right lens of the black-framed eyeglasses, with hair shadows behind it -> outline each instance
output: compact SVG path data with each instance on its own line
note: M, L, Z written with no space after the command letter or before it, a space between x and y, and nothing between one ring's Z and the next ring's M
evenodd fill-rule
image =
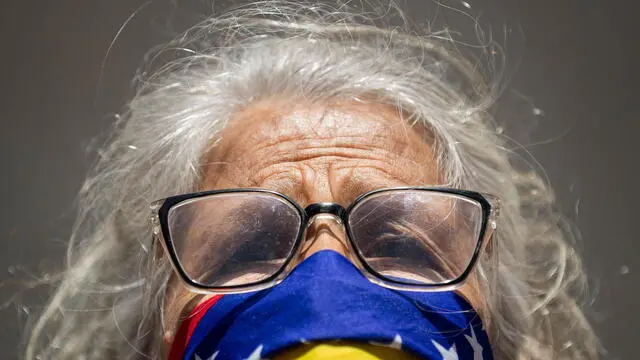
M434 191L373 194L349 215L351 238L364 262L385 279L416 285L460 277L481 225L478 202Z

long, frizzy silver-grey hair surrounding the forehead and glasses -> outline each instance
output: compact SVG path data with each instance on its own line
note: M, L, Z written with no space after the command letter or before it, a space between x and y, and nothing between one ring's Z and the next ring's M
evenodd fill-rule
M345 6L261 1L156 49L151 63L174 50L183 55L141 73L99 152L80 190L64 277L25 357L160 358L171 270L155 256L149 203L198 187L204 152L238 108L268 97L366 97L432 129L447 186L502 199L493 246L478 267L496 359L597 359L577 301L584 271L575 234L546 182L514 165L496 131L489 110L497 82L446 33L379 20Z

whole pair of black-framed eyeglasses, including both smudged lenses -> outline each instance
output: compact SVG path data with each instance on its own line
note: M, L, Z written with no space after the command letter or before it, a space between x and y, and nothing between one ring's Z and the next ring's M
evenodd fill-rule
M153 233L186 285L242 293L280 283L304 248L306 230L331 216L346 230L350 257L370 281L410 291L462 284L496 228L499 201L450 188L395 187L302 208L264 189L172 196L152 205Z

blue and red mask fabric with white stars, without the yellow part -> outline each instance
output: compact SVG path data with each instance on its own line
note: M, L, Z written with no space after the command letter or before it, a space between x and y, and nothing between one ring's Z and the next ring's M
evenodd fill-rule
M266 359L301 344L344 340L424 359L493 359L482 321L455 292L371 283L337 252L319 251L277 286L200 304L170 360Z

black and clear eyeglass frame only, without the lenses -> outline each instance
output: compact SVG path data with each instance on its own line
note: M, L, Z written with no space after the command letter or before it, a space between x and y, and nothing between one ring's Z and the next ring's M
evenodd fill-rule
M469 261L467 267L457 278L443 282L443 283L437 283L437 284L405 283L396 279L389 278L387 276L384 276L378 273L373 268L371 268L371 266L364 259L364 256L361 254L361 251L358 248L356 242L353 240L351 227L349 226L349 215L351 214L352 209L354 209L359 203L366 200L370 196L377 195L384 192L407 191L407 190L428 191L428 192L457 195L470 200L477 201L480 204L482 208L482 223L481 223L478 239L476 240L476 246L474 248L473 254L471 256L471 260ZM291 205L294 209L298 211L298 214L300 216L300 225L296 235L295 243L291 247L290 253L287 255L287 259L285 260L283 265L280 267L280 269L278 269L278 271L276 271L273 275L265 279L262 279L260 281L256 281L249 284L230 285L230 286L207 286L194 281L182 268L181 261L178 258L175 247L173 246L173 241L171 239L171 234L169 231L169 224L168 224L170 210L174 206L181 204L184 201L193 200L201 197L219 195L219 194L228 194L228 193L252 193L252 192L275 195L276 197L279 197L285 200L289 205ZM301 245L304 243L305 230L309 225L309 221L319 214L329 214L340 219L340 221L342 222L345 228L349 245L351 246L351 249L353 250L353 253L356 255L358 260L358 264L354 264L354 265L356 265L356 267L358 267L360 271L363 273L363 275L365 275L370 281L378 285L396 289L396 290L427 292L427 291L453 290L459 287L461 284L463 284L467 280L467 278L473 271L476 263L478 262L478 258L480 257L480 254L486 247L486 244L489 242L490 236L486 236L487 230L489 229L489 225L491 226L491 229L489 230L491 236L493 235L493 232L497 227L496 219L499 214L499 209L500 209L500 200L491 194L479 193L471 190L446 188L446 187L407 186L407 187L390 187L390 188L376 189L358 196L346 209L340 204L332 203L332 202L314 203L314 204L308 205L305 208L302 208L297 202L295 202L288 196L276 191L260 189L260 188L233 188L233 189L200 191L195 193L170 196L164 199L154 201L151 204L151 210L152 210L151 222L153 226L154 240L159 240L161 242L162 247L165 250L165 253L169 255L169 258L171 260L171 265L174 268L174 270L178 273L178 275L185 282L185 284L192 291L197 293L203 293L203 294L243 293L243 292L249 292L249 291L262 290L262 289L277 285L291 272L292 270L290 268L291 261L295 258L295 255L298 253Z

